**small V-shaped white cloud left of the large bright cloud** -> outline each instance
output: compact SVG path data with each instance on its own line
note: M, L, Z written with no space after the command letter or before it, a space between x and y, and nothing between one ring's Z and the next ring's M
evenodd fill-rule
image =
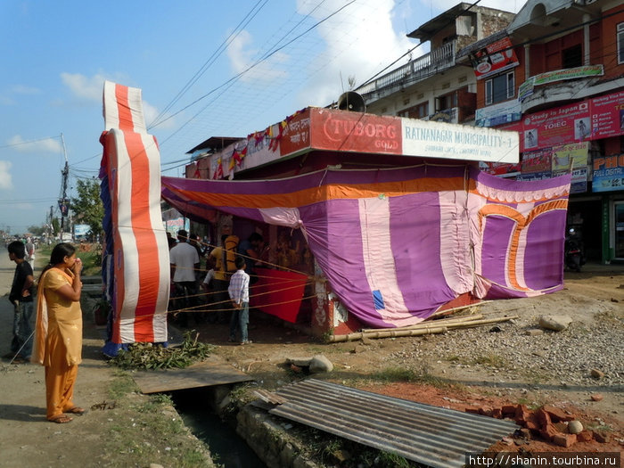
M227 46L227 57L234 74L247 70L259 60L259 50L251 47L253 38L248 31L241 31ZM242 75L242 81L270 83L275 78L283 77L287 73L283 63L288 61L284 53L275 53L267 60L260 62L253 69Z

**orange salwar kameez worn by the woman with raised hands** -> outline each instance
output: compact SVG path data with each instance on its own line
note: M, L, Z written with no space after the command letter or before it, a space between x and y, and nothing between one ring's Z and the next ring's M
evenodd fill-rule
M48 420L74 407L72 398L78 364L82 361L80 303L57 290L73 283L73 274L50 268L39 281L37 324L32 361L45 365L45 401Z

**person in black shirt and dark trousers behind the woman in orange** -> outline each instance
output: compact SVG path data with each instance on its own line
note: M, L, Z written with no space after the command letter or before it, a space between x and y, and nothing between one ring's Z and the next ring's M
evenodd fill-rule
M15 262L15 274L9 300L14 310L13 315L13 337L11 341L11 352L4 357L12 359L14 364L23 364L30 358L32 351L32 325L30 319L33 313L33 284L35 278L32 268L26 261L26 249L20 241L11 242L7 246L9 259Z

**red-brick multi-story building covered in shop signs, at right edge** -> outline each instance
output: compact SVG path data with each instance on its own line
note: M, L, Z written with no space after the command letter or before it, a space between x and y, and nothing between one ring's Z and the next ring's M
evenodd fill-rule
M572 172L568 226L588 259L624 261L624 8L609 0L530 0L500 35L465 47L479 74L512 52L517 66L477 81L476 125L520 133L524 180ZM482 51L487 53L483 54Z

